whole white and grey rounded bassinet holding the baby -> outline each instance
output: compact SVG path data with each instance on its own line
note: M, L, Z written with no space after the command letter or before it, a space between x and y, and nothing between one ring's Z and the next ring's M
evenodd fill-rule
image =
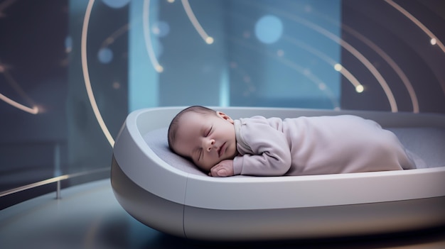
M151 228L202 240L272 240L363 236L445 224L444 115L217 108L232 118L362 116L393 131L428 165L387 172L218 178L168 150L167 127L181 109L132 112L114 144L114 195Z

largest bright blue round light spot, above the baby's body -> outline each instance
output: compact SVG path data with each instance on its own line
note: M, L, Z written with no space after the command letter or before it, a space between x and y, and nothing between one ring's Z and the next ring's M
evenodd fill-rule
M275 43L283 34L283 23L277 16L263 16L255 25L255 35L262 43Z

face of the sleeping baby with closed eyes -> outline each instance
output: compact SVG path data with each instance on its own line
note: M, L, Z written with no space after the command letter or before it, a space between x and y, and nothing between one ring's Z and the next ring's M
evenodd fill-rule
M237 155L235 126L229 116L196 113L184 114L176 133L176 153L191 160L205 171Z

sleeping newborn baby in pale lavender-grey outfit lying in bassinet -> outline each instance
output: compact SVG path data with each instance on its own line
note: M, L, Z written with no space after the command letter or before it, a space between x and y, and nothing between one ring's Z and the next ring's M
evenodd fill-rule
M233 120L221 111L190 106L171 121L168 145L213 177L415 168L392 132L351 115Z

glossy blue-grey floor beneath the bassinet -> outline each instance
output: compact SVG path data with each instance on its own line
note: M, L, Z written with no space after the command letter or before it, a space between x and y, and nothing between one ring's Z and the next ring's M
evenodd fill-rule
M360 238L221 243L168 236L129 216L109 179L0 211L0 248L445 248L445 227Z

